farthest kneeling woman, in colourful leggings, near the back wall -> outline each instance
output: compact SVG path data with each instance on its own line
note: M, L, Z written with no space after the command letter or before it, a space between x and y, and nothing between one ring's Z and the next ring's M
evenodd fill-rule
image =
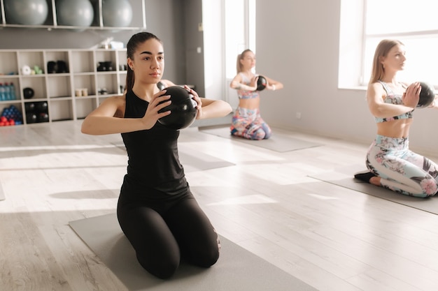
M237 75L229 87L237 90L239 107L236 108L230 126L231 134L248 140L263 140L271 136L271 128L260 117L260 93L257 91L258 75L252 72L255 68L255 54L244 50L237 56ZM269 77L266 89L278 90L283 84Z

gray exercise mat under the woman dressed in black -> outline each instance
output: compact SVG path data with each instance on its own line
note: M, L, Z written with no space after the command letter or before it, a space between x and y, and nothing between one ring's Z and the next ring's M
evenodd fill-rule
M213 267L203 269L183 263L172 278L164 281L141 267L115 214L69 224L131 291L316 291L225 237L220 237L220 258Z

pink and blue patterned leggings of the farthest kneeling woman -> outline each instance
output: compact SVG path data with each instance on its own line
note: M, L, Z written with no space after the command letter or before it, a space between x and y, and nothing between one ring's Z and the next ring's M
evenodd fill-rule
M271 136L271 128L260 117L260 110L237 107L229 127L232 135L248 140L263 140Z

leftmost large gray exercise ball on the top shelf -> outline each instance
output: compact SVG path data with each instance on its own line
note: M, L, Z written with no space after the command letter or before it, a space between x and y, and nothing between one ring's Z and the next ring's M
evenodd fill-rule
M44 24L48 16L45 0L4 0L6 22L24 25Z

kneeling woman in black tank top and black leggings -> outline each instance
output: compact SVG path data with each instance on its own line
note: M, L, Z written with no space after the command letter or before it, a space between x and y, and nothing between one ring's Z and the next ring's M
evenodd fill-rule
M181 258L211 267L219 258L218 234L185 179L178 159L179 130L157 122L171 113L160 113L171 103L157 87L164 71L161 40L152 33L134 34L127 43L127 64L126 93L106 98L81 129L90 135L122 135L129 161L117 207L120 227L141 266L158 278L171 277ZM201 100L185 89L197 103L197 119L232 112L222 100Z

